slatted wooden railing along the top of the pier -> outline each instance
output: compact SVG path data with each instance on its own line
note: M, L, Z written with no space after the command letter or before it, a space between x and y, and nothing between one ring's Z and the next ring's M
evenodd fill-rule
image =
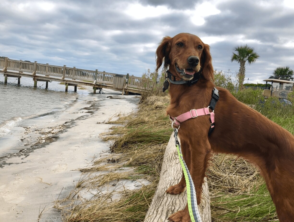
M124 77L124 87L126 91L132 88L134 90L151 90L153 83L150 81L142 81L141 77L129 76L114 74L108 72L100 72L97 69L86 70L86 69L77 69L76 67L66 67L64 66L54 66L47 64L41 64L37 62L29 62L22 60L12 60L7 57L0 57L0 71L1 73L10 71L15 71L17 73L29 73L32 76L42 75L46 77L56 77L57 79L71 79L75 81L85 81L95 84L106 84L113 86L114 77ZM54 80L53 80L54 81ZM60 82L60 81L59 81ZM116 88L115 86L113 86Z

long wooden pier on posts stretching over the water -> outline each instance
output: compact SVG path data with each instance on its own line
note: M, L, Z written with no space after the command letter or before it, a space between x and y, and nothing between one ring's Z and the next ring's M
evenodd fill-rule
M22 60L12 60L7 57L0 57L0 73L4 74L4 83L7 83L9 77L18 78L20 84L21 77L29 77L34 80L34 87L37 82L56 81L65 84L65 91L68 86L74 86L76 92L78 85L93 87L93 93L96 89L112 89L122 91L122 94L128 92L141 93L152 88L151 81L143 80L141 77L130 76L129 74L121 75L108 72L99 72L86 69L76 69L64 66L54 66Z

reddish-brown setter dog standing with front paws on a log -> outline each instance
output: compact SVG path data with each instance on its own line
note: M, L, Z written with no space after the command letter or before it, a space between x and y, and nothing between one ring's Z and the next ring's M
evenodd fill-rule
M156 70L163 64L171 74L168 115L177 117L193 109L208 107L215 87L209 45L196 35L180 33L164 37L156 56ZM199 79L195 84L173 84L192 81L196 74ZM294 136L236 100L228 90L216 88L219 100L214 109L214 130L208 135L211 126L209 115L181 122L178 129L183 157L195 185L197 204L201 200L202 183L211 153L230 153L258 166L280 222L294 221ZM180 182L166 192L179 194L185 187L183 175ZM190 221L188 206L168 219L173 222Z

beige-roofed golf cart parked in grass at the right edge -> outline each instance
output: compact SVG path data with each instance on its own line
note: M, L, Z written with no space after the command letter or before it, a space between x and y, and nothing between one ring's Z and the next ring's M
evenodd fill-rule
M265 98L275 96L278 97L281 102L284 102L287 105L292 105L288 100L288 93L293 92L294 82L278 78L280 77L273 77L263 80L266 82L266 87L265 90L263 90L262 95ZM269 85L268 82L270 83Z

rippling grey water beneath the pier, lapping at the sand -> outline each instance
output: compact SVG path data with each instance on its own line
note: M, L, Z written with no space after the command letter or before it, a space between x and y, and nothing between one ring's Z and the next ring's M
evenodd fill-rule
M17 78L12 77L8 77L5 85L4 76L0 74L0 137L10 133L22 120L61 112L79 97L89 94L88 90L73 92L74 87L65 92L65 86L57 82L49 82L48 89L45 82L38 82L36 88L33 86L33 79L25 77L21 77L20 86Z

